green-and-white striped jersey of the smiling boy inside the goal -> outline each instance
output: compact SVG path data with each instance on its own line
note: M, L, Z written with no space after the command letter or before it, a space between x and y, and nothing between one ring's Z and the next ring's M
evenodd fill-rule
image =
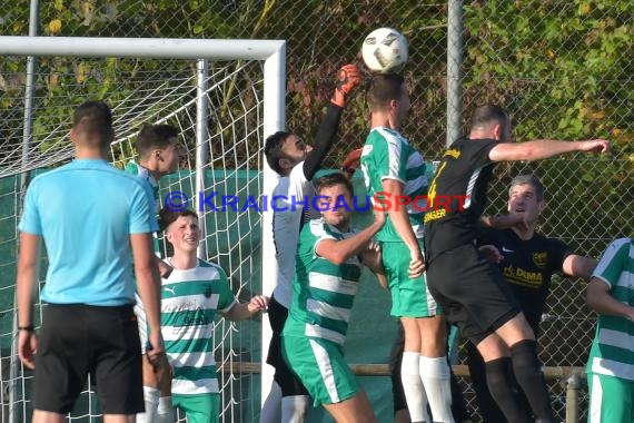
M170 264L169 259L166 263ZM172 394L218 393L214 360L216 312L236 304L229 281L216 264L198 260L187 270L174 269L161 281L160 324L165 351L174 368Z

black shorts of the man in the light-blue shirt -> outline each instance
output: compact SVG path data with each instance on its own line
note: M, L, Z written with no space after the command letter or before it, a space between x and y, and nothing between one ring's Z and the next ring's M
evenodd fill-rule
M47 305L36 355L34 409L70 412L90 375L105 414L142 412L140 348L132 305Z

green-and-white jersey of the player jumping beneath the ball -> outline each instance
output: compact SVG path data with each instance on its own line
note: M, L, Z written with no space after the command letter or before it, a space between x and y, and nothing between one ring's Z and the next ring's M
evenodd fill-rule
M384 191L383 181L393 179L403 184L403 195L407 196L410 201L406 206L409 223L416 237L423 238L423 218L427 208L428 186L427 166L423 156L398 131L377 127L366 139L360 167L368 196L373 203L382 203L379 207L396 207L394 198L382 194ZM402 240L389 217L376 237L383 242Z

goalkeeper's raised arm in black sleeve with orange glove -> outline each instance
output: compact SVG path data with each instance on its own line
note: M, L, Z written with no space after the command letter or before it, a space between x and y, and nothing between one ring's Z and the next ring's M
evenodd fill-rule
M338 83L330 102L326 116L319 126L317 135L313 139L313 151L304 161L304 176L310 180L321 167L324 158L330 151L335 135L339 129L339 120L341 111L346 106L347 96L360 83L360 72L356 65L346 65L338 72Z

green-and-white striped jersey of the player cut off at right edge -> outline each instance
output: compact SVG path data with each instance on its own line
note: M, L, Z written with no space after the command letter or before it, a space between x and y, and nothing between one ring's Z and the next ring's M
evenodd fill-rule
M614 240L592 276L605 282L615 299L634 307L634 239ZM600 314L586 371L634 381L634 322Z

